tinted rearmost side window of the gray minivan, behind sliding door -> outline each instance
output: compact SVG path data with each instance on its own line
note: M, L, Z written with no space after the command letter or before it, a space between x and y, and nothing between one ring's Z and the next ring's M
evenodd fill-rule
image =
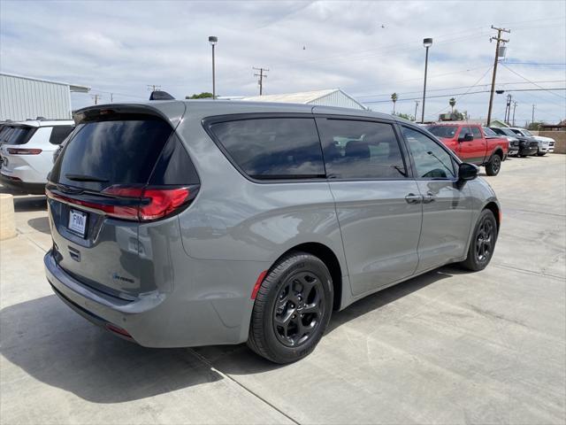
M210 126L233 161L256 179L324 177L317 127L310 118L266 118Z

